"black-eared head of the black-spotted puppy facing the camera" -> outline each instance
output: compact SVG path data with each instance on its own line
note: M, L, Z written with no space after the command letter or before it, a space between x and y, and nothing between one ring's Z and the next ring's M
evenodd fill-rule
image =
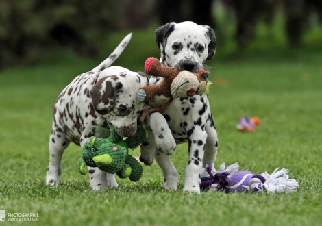
M216 36L206 25L186 21L166 23L156 29L156 42L164 66L196 72L216 52Z

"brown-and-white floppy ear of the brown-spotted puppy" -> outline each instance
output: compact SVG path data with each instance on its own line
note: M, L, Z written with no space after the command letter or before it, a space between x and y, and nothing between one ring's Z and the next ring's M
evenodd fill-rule
M122 88L121 82L112 82L110 76L103 77L97 81L97 84L90 90L92 104L97 113L108 114L115 105L117 90Z

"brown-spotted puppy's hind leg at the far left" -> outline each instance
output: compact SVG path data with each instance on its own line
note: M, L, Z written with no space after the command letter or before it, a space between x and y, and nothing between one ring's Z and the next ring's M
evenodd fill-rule
M69 146L69 140L62 133L61 129L53 128L49 140L49 166L47 168L46 184L58 187L60 184L60 175L62 168L60 161L66 147Z

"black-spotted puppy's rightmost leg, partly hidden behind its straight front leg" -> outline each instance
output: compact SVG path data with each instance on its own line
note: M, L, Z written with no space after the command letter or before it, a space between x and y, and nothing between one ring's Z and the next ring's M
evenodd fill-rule
M203 156L203 168L206 167L207 164L212 164L212 168L214 170L214 161L216 160L218 149L218 138L211 113L209 114L208 121L206 123L206 132L207 141L205 147L205 155Z

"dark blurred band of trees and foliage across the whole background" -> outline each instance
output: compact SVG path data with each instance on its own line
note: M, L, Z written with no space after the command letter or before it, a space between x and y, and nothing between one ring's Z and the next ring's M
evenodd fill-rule
M234 27L232 42L247 47L256 39L258 22L271 25L281 11L290 47L301 46L311 23L322 24L317 0L0 0L0 68L39 62L57 47L63 54L73 49L95 56L112 30L157 23L156 29L171 21L210 25L219 38L230 36L222 31Z

